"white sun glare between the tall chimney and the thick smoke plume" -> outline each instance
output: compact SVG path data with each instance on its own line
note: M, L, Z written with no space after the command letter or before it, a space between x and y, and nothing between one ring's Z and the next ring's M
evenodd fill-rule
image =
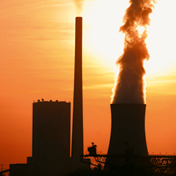
M114 68L117 58L123 52L124 35L119 33L128 1L98 0L85 2L83 12L86 23L86 49L97 56L97 61Z

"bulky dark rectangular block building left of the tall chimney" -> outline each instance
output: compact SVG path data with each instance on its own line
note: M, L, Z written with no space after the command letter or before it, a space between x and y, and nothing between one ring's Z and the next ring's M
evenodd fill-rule
M63 172L70 158L70 103L33 103L32 157L41 176Z

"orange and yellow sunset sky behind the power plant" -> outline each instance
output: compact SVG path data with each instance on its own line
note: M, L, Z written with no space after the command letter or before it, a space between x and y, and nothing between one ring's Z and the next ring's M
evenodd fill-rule
M118 33L128 0L85 0L83 86L84 145L106 153ZM145 63L146 137L149 153L176 153L175 0L159 0L151 15ZM0 163L26 162L32 154L32 103L73 102L72 0L0 1Z

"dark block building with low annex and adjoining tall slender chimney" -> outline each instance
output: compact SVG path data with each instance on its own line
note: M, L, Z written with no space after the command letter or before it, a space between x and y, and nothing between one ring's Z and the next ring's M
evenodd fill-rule
M27 158L27 164L11 164L10 176L62 176L79 168L89 168L89 159L85 160L88 164L80 161L80 156L84 154L82 17L76 17L75 20L72 145L70 145L71 103L38 100L33 103L32 157Z

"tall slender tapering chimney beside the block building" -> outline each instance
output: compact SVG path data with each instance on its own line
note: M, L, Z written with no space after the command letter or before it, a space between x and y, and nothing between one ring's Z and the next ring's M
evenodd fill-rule
M72 157L83 155L83 102L82 102L82 17L75 24L75 75L73 99Z

